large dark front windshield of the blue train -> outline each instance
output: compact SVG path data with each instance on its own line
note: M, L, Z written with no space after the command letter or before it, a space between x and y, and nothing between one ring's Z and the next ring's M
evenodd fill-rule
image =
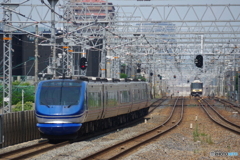
M44 82L40 91L41 105L77 105L81 84L71 81Z

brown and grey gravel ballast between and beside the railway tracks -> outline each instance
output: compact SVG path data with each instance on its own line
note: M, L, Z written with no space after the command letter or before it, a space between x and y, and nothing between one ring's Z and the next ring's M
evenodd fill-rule
M111 146L119 141L131 138L143 133L150 128L164 122L171 111L168 101L158 107L146 117L147 122L133 127L119 129L115 132L98 136L87 141L76 142L60 147L44 154L30 158L31 160L77 160L87 155ZM184 118L181 124L167 134L161 136L154 143L141 147L135 153L124 160L205 160L205 159L240 159L239 135L224 129L212 122L203 109L196 105L196 101L190 100L185 106ZM216 105L217 106L217 105ZM225 112L225 113L224 113ZM229 116L227 111L222 114ZM231 120L237 123L240 116L231 116ZM190 128L192 126L192 128ZM1 150L6 152L27 145L37 143L39 140L10 146ZM221 153L221 156L213 156ZM227 156L233 154L238 156ZM210 155L212 154L212 155Z

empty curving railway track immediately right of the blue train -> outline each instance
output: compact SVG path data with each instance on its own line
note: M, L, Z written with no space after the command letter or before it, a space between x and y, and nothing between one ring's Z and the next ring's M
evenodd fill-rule
M152 130L149 130L143 134L140 134L128 140L122 141L111 147L105 148L97 153L94 153L88 157L83 158L83 160L118 159L128 154L132 150L136 149L137 147L140 147L150 142L151 140L158 138L160 135L168 132L169 130L173 129L183 119L183 113L184 113L183 99L180 105L177 104L178 101L179 101L179 98L176 99L172 112L170 113L170 116L168 117L168 119L164 123L160 124L158 127L155 127Z

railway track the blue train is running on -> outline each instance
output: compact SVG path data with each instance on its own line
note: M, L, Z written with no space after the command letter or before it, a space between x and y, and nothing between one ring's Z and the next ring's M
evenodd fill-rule
M162 99L159 99L156 102L154 102L150 106L149 114L151 112L153 112L156 109L156 107L161 105L161 103L163 103L166 99L167 98L162 98ZM119 129L119 128L128 127L128 126L134 125L136 123L139 123L141 121L143 121L143 118L139 118L139 119L137 119L135 121L132 121L132 122L127 123L127 124L124 124L124 125L122 125L120 127L117 126L117 128ZM56 149L58 147L62 147L62 146L68 145L68 144L73 143L73 142L78 142L78 141L86 140L86 139L89 139L89 138L93 138L95 136L106 134L106 133L114 131L114 130L116 130L116 127L108 129L108 130L105 130L105 131L102 131L102 132L97 132L95 134L91 134L91 135L88 135L88 136L84 136L84 137L81 137L81 138L73 140L73 141L64 141L64 142L55 143L55 144L49 143L46 140L46 141L43 141L43 142L39 142L39 143L37 143L35 145L31 145L31 146L20 148L20 149L13 150L13 151L10 151L10 152L2 153L2 154L0 154L0 159L19 160L19 159L30 158L30 157L36 156L38 154L44 153L46 151L50 151L52 149Z

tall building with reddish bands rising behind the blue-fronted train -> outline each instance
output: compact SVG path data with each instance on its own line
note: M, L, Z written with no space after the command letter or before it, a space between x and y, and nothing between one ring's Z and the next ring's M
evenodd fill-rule
M77 31L76 41L83 41L78 47L80 52L86 51L86 57L88 59L87 76L100 76L99 66L101 63L101 52L103 44L103 30L104 27L109 25L110 20L115 16L115 8L112 3L107 3L102 0L71 0L70 11L73 13L68 17L71 21L75 22L74 26L69 26L68 30L73 31L76 27L81 28ZM88 26L91 23L94 23ZM88 27L86 27L88 26ZM81 55L75 55L75 73L81 74L79 68L79 60Z

